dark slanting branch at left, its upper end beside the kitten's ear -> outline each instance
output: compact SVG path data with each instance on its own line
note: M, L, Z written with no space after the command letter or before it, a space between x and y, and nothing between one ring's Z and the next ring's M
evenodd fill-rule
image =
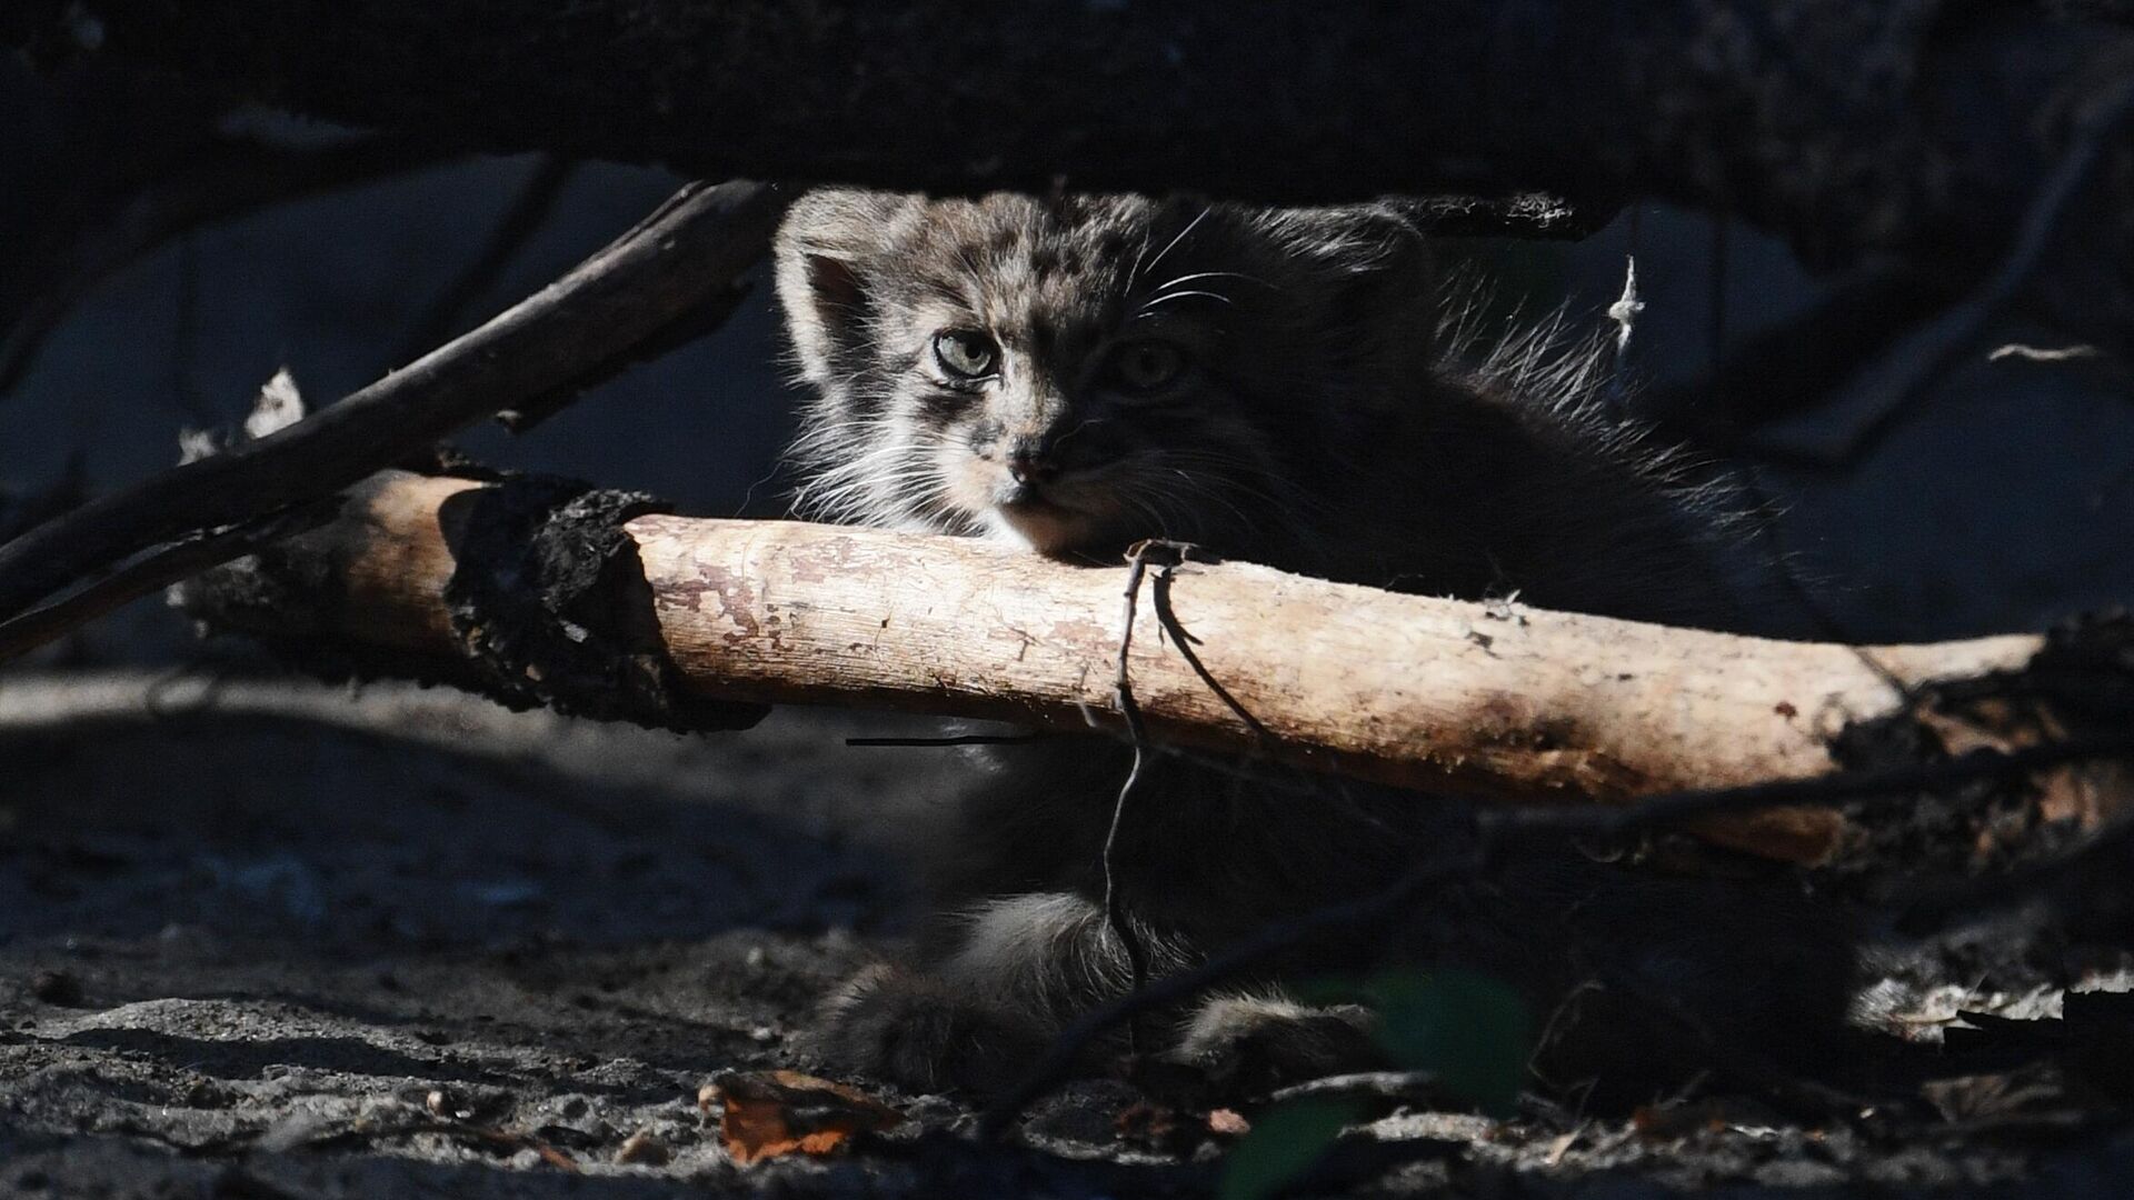
M617 359L723 295L783 199L691 184L557 284L258 442L98 498L0 547L0 617L158 542L327 498L452 429Z

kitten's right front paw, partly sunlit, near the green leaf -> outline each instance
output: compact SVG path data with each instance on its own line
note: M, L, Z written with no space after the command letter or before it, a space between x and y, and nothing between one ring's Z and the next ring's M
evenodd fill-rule
M1206 1072L1208 1085L1223 1095L1265 1095L1293 1083L1383 1065L1368 1010L1246 995L1204 1004L1172 1057Z

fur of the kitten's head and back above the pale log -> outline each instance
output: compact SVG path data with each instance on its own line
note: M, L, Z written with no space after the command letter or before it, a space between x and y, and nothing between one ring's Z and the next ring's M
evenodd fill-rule
M1112 557L1167 536L1353 583L1739 628L1724 495L1609 414L1594 340L1477 354L1396 205L822 190L777 243L813 391L796 508ZM943 331L997 378L943 378ZM1189 363L1108 380L1122 348ZM1056 465L1035 498L1016 448Z

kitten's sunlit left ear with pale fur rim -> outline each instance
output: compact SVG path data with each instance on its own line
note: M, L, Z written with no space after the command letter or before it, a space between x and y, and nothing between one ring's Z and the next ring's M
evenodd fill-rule
M888 192L822 188L785 214L773 252L777 290L809 382L828 384L858 367L875 310L875 263L907 203Z

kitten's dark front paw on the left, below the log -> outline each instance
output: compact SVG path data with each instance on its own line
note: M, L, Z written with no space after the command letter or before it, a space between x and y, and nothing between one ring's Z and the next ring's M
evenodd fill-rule
M817 1053L837 1068L909 1091L994 1095L1050 1046L1031 1019L888 963L866 967L824 1004Z

